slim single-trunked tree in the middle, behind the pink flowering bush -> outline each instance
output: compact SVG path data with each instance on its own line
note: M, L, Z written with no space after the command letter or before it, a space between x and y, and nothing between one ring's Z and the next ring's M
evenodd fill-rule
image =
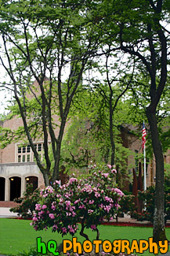
M103 59L100 60L100 64L97 65L97 70L99 71L101 78L95 78L95 74L93 74L91 79L91 91L103 102L100 106L98 104L98 118L100 123L105 122L105 126L108 126L110 140L110 165L114 165L115 112L118 107L118 102L121 101L123 96L125 96L132 83L135 62L132 59L125 62L124 56L120 56L120 54L118 56L118 51L115 50L114 53L112 53L110 51L110 45L106 45L105 47L108 49L108 52L103 54ZM113 56L114 62L112 61ZM104 63L102 63L102 61ZM133 69L131 69L132 66ZM126 70L125 74L123 72L124 70Z

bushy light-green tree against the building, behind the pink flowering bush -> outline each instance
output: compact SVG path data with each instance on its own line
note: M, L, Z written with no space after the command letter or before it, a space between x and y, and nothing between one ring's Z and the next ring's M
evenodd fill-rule
M111 161L110 92L107 85L101 83L93 81L89 87L85 85L74 97L70 112L71 121L64 135L61 151L61 163L67 166L67 169L81 169L82 172L87 169L90 161L97 164L108 164ZM122 90L123 87L122 84ZM114 97L117 98L121 94L119 87L115 86L113 90ZM125 121L127 116L124 102L120 100L111 123L115 147L114 161L119 171L127 169L127 158L132 154L122 145L119 126Z

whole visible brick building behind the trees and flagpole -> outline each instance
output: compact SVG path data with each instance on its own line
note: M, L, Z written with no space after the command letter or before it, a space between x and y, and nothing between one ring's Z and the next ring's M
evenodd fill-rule
M23 126L23 121L21 118L14 117L12 120L1 122L0 125L3 128L16 129ZM57 132L59 131L56 129ZM128 173L132 173L132 169L138 172L139 161L143 162L141 140L136 138L136 135L132 133L132 126L128 125L121 126L121 139L123 146L132 150L132 155L127 159ZM13 201L13 198L20 197L26 190L26 184L33 184L34 188L44 187L43 176L34 162L31 147L22 146L21 143L22 141L11 143L3 150L0 149L0 201ZM38 153L43 154L42 140L35 140L34 144ZM141 158L138 158L139 154ZM170 164L169 150L165 155L165 162ZM154 177L155 161L153 159L146 166L147 187L155 184ZM128 183L127 181L126 189L128 189Z

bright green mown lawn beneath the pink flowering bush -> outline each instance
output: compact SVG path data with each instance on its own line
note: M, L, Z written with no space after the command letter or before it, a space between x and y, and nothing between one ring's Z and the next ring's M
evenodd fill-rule
M31 221L16 220L16 219L0 219L0 254L18 255L19 251L30 250L30 247L36 247L36 238L42 237L42 242L47 243L53 239L59 245L63 243L63 239L71 239L71 236L60 236L57 232L39 231L35 232L34 228L30 226ZM89 235L90 241L96 239L96 232L91 230L85 231ZM110 240L113 242L115 239L146 239L152 237L152 228L137 228L137 227L119 227L102 225L99 227L99 239ZM170 228L166 228L166 235L170 240ZM78 242L83 242L83 238L76 234ZM141 254L140 254L141 255ZM145 252L143 255L152 255ZM154 254L153 254L154 255Z

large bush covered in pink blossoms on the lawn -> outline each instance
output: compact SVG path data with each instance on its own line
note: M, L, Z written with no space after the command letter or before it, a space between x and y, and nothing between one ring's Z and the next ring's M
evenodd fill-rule
M91 165L89 175L83 180L73 176L63 186L56 180L53 187L46 187L40 192L31 225L35 230L52 227L52 232L74 236L80 222L81 236L89 239L84 229L91 228L99 239L97 226L104 218L110 221L118 213L119 201L124 195L114 187L115 173L111 165L103 169Z

